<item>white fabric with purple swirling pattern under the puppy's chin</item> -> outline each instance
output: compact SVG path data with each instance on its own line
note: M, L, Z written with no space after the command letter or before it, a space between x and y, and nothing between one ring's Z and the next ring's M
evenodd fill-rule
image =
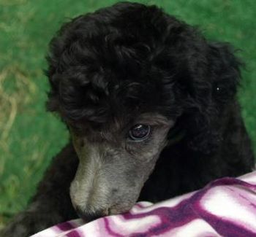
M64 222L39 236L256 236L256 171L161 203L140 202L126 214Z

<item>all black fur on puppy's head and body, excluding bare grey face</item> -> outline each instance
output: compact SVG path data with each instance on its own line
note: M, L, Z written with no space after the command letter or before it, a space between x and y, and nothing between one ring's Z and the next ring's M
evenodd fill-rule
M48 63L48 109L79 134L84 123L96 132L116 117L144 112L176 121L139 200L162 201L252 170L236 99L241 63L229 44L208 42L158 7L119 3L66 23L50 42ZM22 233L33 233L75 217L69 185L78 158L71 143L56 160L29 212L44 217L40 227L21 218L9 231L23 226Z

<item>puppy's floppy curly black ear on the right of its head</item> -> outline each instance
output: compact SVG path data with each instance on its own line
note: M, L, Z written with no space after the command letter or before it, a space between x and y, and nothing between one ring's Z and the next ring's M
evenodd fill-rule
M189 103L186 120L187 143L190 149L209 154L223 139L223 128L236 106L236 91L241 62L229 44L211 43L206 50L206 63L200 69L203 77L194 78L194 96ZM194 71L195 77L197 73Z

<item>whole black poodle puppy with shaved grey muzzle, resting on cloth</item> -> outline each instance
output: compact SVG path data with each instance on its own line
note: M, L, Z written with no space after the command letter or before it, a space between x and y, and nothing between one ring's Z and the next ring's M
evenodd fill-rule
M67 147L4 236L28 236L197 190L252 170L228 44L155 6L119 3L65 24L50 42L48 109Z

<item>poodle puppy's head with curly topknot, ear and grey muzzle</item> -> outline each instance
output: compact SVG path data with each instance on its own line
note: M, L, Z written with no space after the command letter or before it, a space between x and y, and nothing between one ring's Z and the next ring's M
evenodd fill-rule
M188 143L197 138L194 148L211 146L212 114L236 93L238 77L225 46L157 7L129 3L65 24L48 62L48 109L72 136L80 162L70 195L86 218L132 207L178 124Z

